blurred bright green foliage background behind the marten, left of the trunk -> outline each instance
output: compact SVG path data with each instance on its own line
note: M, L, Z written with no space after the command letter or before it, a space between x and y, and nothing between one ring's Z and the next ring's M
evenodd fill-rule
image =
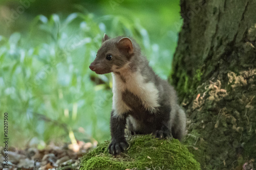
M178 0L1 1L0 117L3 125L8 112L9 144L110 139L111 75L89 69L103 34L132 36L167 79L179 11Z

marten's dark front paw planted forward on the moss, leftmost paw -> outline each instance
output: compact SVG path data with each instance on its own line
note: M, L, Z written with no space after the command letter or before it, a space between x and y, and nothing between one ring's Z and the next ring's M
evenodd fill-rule
M121 152L125 151L129 147L129 144L126 140L112 140L109 145L109 153L112 155L120 154Z

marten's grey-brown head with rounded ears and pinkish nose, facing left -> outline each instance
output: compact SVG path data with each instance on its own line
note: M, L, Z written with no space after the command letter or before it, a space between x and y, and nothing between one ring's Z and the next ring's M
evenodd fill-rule
M102 45L99 48L95 60L89 66L96 74L107 74L119 71L129 64L134 56L134 46L130 38L110 37L104 34Z

